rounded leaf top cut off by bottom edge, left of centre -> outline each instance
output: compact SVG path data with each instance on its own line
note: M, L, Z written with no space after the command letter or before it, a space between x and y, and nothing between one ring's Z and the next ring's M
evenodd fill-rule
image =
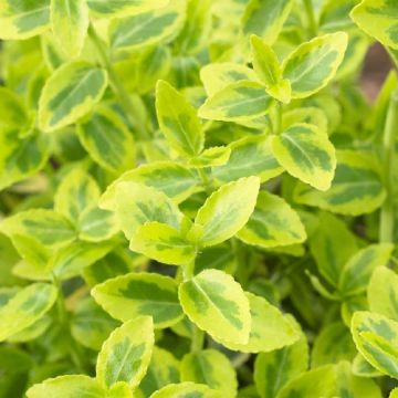
M190 381L171 384L154 392L150 398L221 398L222 396L205 385Z

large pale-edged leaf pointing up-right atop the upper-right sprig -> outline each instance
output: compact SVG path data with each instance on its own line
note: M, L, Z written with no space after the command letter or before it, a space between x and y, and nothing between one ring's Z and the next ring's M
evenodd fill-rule
M290 80L292 98L305 98L325 87L343 62L347 34L336 32L300 45L283 62L283 77Z

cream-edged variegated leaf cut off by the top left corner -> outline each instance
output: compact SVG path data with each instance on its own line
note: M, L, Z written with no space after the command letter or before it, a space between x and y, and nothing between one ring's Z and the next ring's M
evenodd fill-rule
M24 40L50 25L50 0L4 0L0 8L0 39Z

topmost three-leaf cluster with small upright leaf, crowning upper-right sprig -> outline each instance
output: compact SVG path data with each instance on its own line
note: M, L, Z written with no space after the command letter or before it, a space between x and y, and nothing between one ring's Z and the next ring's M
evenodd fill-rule
M200 107L199 116L245 122L266 115L274 105L272 97L290 102L291 98L313 95L333 78L346 46L347 35L344 32L315 38L301 44L281 66L273 50L254 36L253 66L261 83L242 76L240 81L213 92ZM206 74L201 76L206 78Z

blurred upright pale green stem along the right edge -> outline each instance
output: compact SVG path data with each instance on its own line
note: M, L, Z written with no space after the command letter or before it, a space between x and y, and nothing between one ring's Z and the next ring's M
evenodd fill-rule
M380 242L394 241L395 134L398 128L398 91L390 96L383 137L383 171L387 198L380 211Z

